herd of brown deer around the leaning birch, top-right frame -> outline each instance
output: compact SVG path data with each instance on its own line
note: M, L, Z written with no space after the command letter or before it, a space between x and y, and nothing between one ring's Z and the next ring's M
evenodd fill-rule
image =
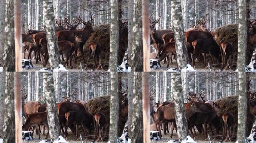
M150 53L150 58L155 58L159 61L164 60L164 63L166 63L167 58L167 67L169 67L170 60L171 63L173 63L172 55L176 58L174 32L171 30L156 30L155 25L159 22L160 18L161 16L153 21L151 20L152 15L150 16L150 44L157 52L156 57L154 53ZM214 31L208 31L206 23L207 14L205 19L201 18L199 20L196 17L196 25L191 24L192 28L189 28L184 32L189 62L195 67L195 58L197 58L198 61L202 61L204 66L206 66L205 55L209 54L213 64L221 63L222 69L226 70L228 67L231 69L234 63L234 61L231 61L234 53L232 43L224 41L224 39L222 39L220 43L217 43L217 35ZM249 44L255 45L256 20L250 22L249 29ZM229 65L229 63L231 64Z

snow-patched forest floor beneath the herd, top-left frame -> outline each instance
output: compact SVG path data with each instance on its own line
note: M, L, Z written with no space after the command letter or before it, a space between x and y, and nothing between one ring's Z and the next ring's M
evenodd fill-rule
M28 53L26 53L26 58L28 57ZM86 57L85 57L86 58ZM42 58L41 58L41 60L43 60ZM64 57L64 60L65 60L65 57ZM87 60L87 58L86 58L86 60ZM64 65L64 61L62 61L61 60L61 63ZM79 71L85 71L84 70L84 67L82 67L82 69L80 68L80 63L83 65L83 60L82 60L82 57L78 57L77 58L77 63L73 63L73 69L70 69L70 66L68 66L66 69L68 70L68 71L77 71L77 72L79 72ZM32 69L23 69L23 71L39 71L39 70L41 70L41 69L47 69L47 68L49 68L50 67L50 64L49 64L49 61L48 61L48 63L46 64L46 67L43 67L43 62L42 61L39 61L39 63L37 63L36 64L36 60L33 58L32 59L32 64L33 64L33 68ZM93 70L93 68L92 68L92 64L93 64L93 62L92 62L92 59L90 60L90 62L89 62L89 64L88 64L88 67L87 67L87 71L92 71ZM97 64L97 66L98 66L98 63L96 63ZM69 64L68 64L69 65ZM102 66L104 66L104 61L102 61ZM105 67L103 67L103 70L104 71L107 71L108 69L107 69L107 67L108 66L105 66ZM101 68L99 69L99 70L101 70Z

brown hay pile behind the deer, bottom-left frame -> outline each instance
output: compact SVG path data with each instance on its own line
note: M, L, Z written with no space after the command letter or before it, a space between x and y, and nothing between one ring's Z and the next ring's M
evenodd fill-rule
M106 116L106 123L109 124L109 102L110 96L99 96L96 98L89 99L86 104L86 108L88 109L88 112L92 115L97 114L100 110L99 113L102 113Z

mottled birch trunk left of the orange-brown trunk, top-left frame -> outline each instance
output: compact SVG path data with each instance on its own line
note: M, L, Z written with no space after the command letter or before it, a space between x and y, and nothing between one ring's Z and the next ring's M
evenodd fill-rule
M14 19L13 0L6 0L6 18L4 29L4 54L3 70L15 71L15 44L14 44Z

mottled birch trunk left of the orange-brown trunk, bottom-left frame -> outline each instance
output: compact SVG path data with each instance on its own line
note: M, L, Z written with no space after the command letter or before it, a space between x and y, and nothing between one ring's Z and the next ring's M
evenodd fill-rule
M13 73L6 72L4 100L3 143L15 143L14 87Z

